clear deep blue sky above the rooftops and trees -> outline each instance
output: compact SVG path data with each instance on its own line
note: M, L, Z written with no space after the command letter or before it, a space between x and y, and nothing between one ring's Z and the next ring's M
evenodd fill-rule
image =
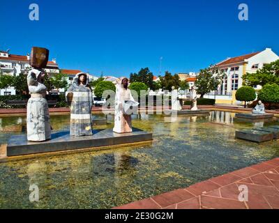
M40 20L29 20L38 3ZM247 3L249 20L239 21ZM279 0L1 0L0 49L50 49L60 68L128 76L149 67L197 72L271 47L279 54Z

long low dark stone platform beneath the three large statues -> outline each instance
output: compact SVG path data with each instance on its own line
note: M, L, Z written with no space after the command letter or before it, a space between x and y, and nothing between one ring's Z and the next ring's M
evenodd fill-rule
M69 151L80 148L96 148L130 144L141 141L151 141L152 133L133 128L133 132L115 133L112 129L93 130L93 135L70 137L70 132L52 133L52 139L42 142L27 141L26 134L13 135L7 145L7 156Z

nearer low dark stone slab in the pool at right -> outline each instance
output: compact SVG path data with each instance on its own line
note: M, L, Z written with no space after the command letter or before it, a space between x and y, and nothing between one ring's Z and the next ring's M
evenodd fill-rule
M235 134L236 139L245 139L248 141L262 142L272 140L273 132L264 132L262 130L239 130Z

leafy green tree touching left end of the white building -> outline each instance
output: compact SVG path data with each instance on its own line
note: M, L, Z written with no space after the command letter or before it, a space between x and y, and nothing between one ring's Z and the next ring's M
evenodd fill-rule
M197 93L200 94L200 98L204 98L206 93L215 91L218 85L221 83L222 75L213 75L213 68L205 68L200 70L195 86L197 87Z

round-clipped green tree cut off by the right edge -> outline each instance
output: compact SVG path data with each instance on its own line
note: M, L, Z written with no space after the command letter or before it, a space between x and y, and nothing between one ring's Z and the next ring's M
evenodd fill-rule
M259 91L258 99L262 102L279 103L279 85L278 84L266 84ZM270 107L270 106L269 106Z

